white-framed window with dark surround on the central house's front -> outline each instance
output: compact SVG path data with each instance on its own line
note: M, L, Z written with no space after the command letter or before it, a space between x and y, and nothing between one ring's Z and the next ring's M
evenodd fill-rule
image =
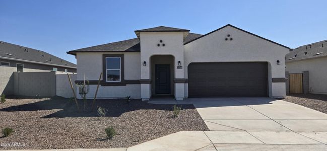
M121 81L120 57L106 57L106 82Z

